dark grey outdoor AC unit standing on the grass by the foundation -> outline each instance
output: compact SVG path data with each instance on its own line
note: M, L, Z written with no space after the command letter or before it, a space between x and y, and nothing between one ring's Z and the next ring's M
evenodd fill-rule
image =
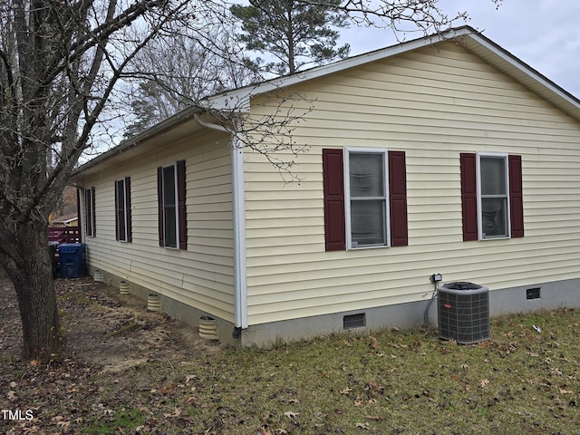
M489 289L457 282L437 286L439 334L460 344L478 343L489 333Z

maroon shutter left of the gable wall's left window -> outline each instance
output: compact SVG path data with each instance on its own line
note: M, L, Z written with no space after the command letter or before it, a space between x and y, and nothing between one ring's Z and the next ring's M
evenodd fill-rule
M324 243L327 251L346 249L343 150L323 150Z

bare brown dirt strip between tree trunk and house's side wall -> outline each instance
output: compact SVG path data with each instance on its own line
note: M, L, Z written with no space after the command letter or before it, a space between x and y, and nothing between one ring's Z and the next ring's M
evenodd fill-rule
M218 354L223 346L166 314L147 311L134 295L95 283L90 277L55 281L66 330L68 359L102 372L121 372L151 360L183 360ZM22 326L12 286L0 282L0 353L17 357Z

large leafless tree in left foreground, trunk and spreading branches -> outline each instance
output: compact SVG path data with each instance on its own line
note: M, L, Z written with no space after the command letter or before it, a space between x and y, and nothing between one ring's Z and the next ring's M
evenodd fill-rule
M0 0L0 263L14 285L26 358L49 362L62 354L64 334L46 247L48 216L80 156L104 131L119 85L129 78L159 77L152 69L134 71L133 60L150 43L183 29L206 50L224 53L205 29L208 23L227 23L227 5L222 0ZM414 23L432 31L452 22L440 14L437 0L349 0L336 7L357 23L397 29ZM267 120L263 124L272 127ZM285 121L280 126L284 131ZM276 150L256 148L266 155Z

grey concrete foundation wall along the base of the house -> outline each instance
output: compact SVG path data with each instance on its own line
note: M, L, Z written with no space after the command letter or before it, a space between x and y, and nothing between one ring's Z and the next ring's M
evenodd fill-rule
M88 267L90 275L94 268ZM108 285L119 286L121 278L102 271L103 281ZM539 290L538 290L539 289ZM130 283L131 295L147 301L150 290ZM530 298L530 296L532 296ZM537 297L539 296L539 297ZM350 331L362 333L381 328L411 328L424 324L425 311L428 308L431 324L437 324L437 299L432 304L429 300L394 304L343 312L335 314L303 317L301 319L272 322L269 324L250 325L234 338L234 324L222 319L218 321L218 339L224 343L267 346L275 342L290 342L302 338L320 336L329 333ZM530 313L541 309L552 310L562 307L580 307L580 279L570 279L541 285L511 287L489 292L489 314L491 316L512 313ZM172 300L161 295L161 311L171 318L178 319L193 327L199 326L201 316L207 316L194 307ZM355 316L361 326L344 328L345 316ZM347 317L348 319L349 317ZM351 317L352 318L352 317ZM491 331L493 336L493 330Z

